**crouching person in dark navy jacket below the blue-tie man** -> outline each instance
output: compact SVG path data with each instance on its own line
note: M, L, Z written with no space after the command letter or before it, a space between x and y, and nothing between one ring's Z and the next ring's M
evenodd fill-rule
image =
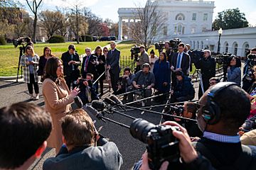
M176 85L171 90L171 103L193 100L195 93L191 78L186 77L182 71L177 71Z

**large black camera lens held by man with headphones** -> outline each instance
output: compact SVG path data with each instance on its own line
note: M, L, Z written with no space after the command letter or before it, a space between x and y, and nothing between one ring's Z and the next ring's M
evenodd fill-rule
M135 119L130 126L130 133L132 137L146 143L146 136L152 128L156 125L149 123L141 118Z

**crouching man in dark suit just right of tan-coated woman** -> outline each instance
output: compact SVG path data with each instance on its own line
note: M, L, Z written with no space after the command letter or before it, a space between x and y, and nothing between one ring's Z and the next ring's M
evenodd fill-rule
M81 98L83 105L100 99L96 94L95 87L92 85L93 74L87 73L86 79L78 79L77 84L80 86L80 93L78 96Z

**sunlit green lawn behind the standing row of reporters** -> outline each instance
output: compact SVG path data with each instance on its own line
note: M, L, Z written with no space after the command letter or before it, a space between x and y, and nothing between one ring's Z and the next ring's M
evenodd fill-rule
M55 43L55 44L49 44L49 43L38 43L35 44L35 51L36 54L39 56L43 55L43 48L48 46L51 48L53 55L60 57L63 52L66 52L68 50L68 45L70 42L65 43ZM90 47L92 50L95 49L97 45L100 45L104 47L105 45L110 44L110 42L81 42L80 44L74 43L76 50L78 50L78 54L82 55L85 53L85 47ZM131 56L131 48L134 47L134 42L132 41L124 41L120 42L117 45L117 49L121 51L121 65L122 69L126 66L132 65L132 60L130 58ZM151 49L154 49L154 46L151 47L148 52L150 52ZM155 50L156 55L159 55L158 51ZM8 77L8 76L16 76L17 74L17 68L18 68L18 55L19 55L19 49L14 48L14 45L0 45L0 77ZM20 73L21 74L21 73Z

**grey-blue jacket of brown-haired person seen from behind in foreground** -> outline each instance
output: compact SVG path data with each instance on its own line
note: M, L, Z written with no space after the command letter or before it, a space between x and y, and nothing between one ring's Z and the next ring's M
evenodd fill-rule
M101 147L75 147L70 152L62 147L56 157L46 159L43 170L116 170L122 163L117 146L107 142Z

